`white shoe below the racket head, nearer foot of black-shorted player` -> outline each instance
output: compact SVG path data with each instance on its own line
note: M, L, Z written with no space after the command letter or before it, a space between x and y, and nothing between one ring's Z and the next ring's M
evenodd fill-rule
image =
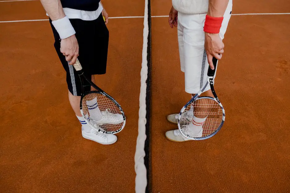
M103 145L110 145L110 144L113 144L117 141L116 135L103 134L103 133L97 132L93 129L91 129L89 132L86 132L86 131L84 131L83 127L81 127L81 135L85 139L89 139L89 140L95 141L97 143L101 143Z

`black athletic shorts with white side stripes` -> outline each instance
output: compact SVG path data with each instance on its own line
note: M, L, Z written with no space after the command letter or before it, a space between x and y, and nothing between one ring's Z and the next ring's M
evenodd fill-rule
M93 21L81 19L69 19L76 31L76 38L79 44L78 59L83 67L85 75L90 79L93 74L106 74L109 31L103 20L102 14ZM60 52L60 37L52 25L54 35L54 47L60 58L64 70L66 71L66 81L68 90L75 96L81 96L81 80L72 65L65 60L65 56ZM90 86L86 86L90 90ZM85 91L86 91L85 90Z

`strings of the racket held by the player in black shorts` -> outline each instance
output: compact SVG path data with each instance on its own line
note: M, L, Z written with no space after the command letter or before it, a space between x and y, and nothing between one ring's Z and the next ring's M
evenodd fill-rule
M91 127L106 132L122 128L124 118L120 108L103 94L89 93L83 97L81 105L82 113Z

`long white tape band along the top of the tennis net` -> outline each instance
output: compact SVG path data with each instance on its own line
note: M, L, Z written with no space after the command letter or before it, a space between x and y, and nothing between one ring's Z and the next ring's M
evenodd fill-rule
M144 165L144 146L146 140L146 88L147 88L147 42L148 42L148 0L145 0L144 9L144 29L143 29L143 50L142 50L142 66L141 66L141 87L139 96L139 120L138 120L138 137L135 152L135 192L145 193L147 186L147 171Z

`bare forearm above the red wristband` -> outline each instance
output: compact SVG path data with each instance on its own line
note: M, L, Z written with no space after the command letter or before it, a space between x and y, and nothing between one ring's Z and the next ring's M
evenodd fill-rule
M223 17L229 0L209 0L208 15L212 17Z

